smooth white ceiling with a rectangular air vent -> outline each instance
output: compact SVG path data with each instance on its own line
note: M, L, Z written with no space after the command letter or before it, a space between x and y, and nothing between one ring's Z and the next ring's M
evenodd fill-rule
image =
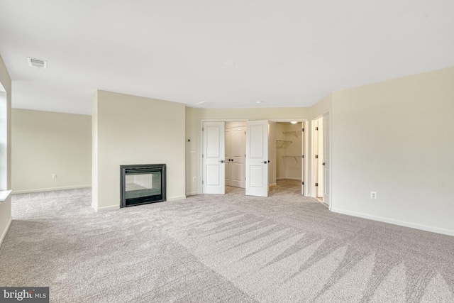
M453 66L454 1L0 0L0 54L16 108L90 114L95 89L188 106L311 106Z

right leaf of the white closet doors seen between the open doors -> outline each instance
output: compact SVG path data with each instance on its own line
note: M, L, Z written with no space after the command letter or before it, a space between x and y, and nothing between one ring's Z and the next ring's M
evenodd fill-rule
M231 129L231 186L245 188L246 127Z

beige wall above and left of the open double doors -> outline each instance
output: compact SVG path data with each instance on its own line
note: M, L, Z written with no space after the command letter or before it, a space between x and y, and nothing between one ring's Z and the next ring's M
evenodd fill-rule
M260 109L198 109L186 108L186 193L201 194L201 121L202 120L270 120L307 119L306 107ZM190 141L190 142L189 142ZM194 153L191 153L194 152ZM196 181L193 181L193 178Z

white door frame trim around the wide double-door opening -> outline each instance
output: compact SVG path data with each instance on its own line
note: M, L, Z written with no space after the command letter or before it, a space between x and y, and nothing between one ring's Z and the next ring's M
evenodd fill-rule
M310 175L310 172L309 172L309 149L311 148L309 146L309 119L301 119L301 118L294 118L294 119L267 119L268 121L270 122L291 122L291 121L298 121L298 122L301 122L302 125L304 125L304 150L302 150L304 152L304 161L301 162L301 165L304 165L304 170L303 170L303 175L304 175L304 185L301 187L301 195L304 196L304 197L311 197L310 194L311 192L309 192L309 189L311 188L309 186L309 175ZM250 119L201 119L200 120L200 144L199 144L199 148L201 151L204 150L204 133L201 131L201 128L204 127L204 122L221 122L221 121L224 121L224 122L235 122L235 121L250 121ZM246 129L246 131L248 131ZM203 192L203 184L201 184L201 180L203 178L203 175L202 175L202 172L204 170L204 167L203 167L203 160L201 158L201 154L200 154L200 157L199 157L199 167L201 167L201 170L200 170L200 175L199 175L199 192L202 193ZM301 176L302 177L302 176Z

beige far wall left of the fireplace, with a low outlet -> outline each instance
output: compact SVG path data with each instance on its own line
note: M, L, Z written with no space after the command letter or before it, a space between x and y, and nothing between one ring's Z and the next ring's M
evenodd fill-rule
M92 116L13 109L12 167L15 194L91 187Z

